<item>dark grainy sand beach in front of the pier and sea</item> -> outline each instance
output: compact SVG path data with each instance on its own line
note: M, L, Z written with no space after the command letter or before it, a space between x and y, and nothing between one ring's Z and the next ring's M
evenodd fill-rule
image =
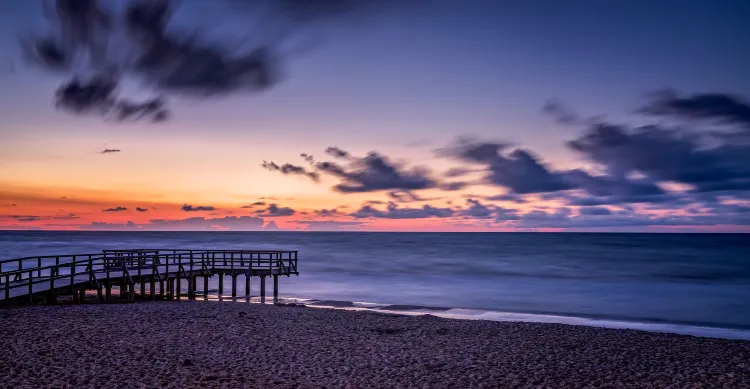
M3 388L750 388L750 341L221 302L0 310Z

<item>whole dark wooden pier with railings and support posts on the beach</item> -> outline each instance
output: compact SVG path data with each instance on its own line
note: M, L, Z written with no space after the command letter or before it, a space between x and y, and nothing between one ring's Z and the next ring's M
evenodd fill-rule
M97 254L52 255L0 261L0 305L55 304L58 296L83 302L86 291L96 291L99 301L111 301L112 287L120 298L194 300L200 291L208 298L208 280L231 278L231 296L237 297L237 278L244 278L244 296L250 281L260 279L260 301L266 299L266 278L273 278L273 299L278 301L279 276L299 275L297 251L264 250L103 250ZM198 280L202 279L202 289ZM158 288L158 293L157 293Z

